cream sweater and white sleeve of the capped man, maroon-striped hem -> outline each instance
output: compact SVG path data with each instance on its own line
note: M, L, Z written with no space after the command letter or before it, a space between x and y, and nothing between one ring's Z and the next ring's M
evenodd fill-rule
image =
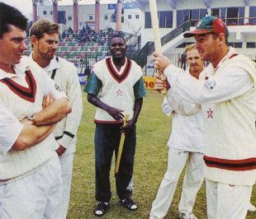
M164 71L172 89L185 100L201 104L205 177L225 184L254 184L255 63L230 48L216 68L210 64L201 72L202 81L188 81L173 68Z

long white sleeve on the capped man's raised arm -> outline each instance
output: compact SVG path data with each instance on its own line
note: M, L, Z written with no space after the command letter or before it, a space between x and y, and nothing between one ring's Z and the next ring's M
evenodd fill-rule
M180 68L179 68L180 69ZM217 103L243 95L254 86L254 82L243 68L225 68L225 72L213 75L206 81L191 80L179 73L173 64L164 70L173 91L192 103Z

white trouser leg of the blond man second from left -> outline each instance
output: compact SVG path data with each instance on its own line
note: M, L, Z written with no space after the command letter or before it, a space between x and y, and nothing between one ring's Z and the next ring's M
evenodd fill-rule
M59 156L59 162L61 165L61 175L63 181L63 196L60 203L60 218L64 219L67 217L67 213L69 210L69 198L73 170L73 153L64 156Z

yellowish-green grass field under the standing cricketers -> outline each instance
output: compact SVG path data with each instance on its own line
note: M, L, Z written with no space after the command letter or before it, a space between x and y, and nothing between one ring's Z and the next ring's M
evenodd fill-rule
M160 108L163 101L156 91L148 91L137 124L137 146L135 154L135 173L133 198L139 204L136 212L129 212L121 207L116 196L115 181L111 169L111 208L102 218L149 218L151 203L163 179L168 147L166 142L170 133L171 119L166 117ZM69 219L93 218L94 199L94 128L95 107L88 104L83 92L83 119L78 130L78 145L73 162L73 184L69 204ZM114 163L112 165L114 167ZM173 197L173 203L165 218L178 218L178 201L181 195L183 175ZM252 203L256 204L254 186ZM194 206L198 218L206 218L206 195L203 184L197 193ZM249 213L247 219L256 218L256 213ZM223 218L229 219L229 218Z

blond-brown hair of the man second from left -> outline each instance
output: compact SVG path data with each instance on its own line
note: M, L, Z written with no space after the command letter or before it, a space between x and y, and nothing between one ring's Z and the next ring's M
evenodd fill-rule
M55 33L59 35L59 25L48 19L36 21L30 29L30 37L35 35L37 39L42 38L44 34Z

